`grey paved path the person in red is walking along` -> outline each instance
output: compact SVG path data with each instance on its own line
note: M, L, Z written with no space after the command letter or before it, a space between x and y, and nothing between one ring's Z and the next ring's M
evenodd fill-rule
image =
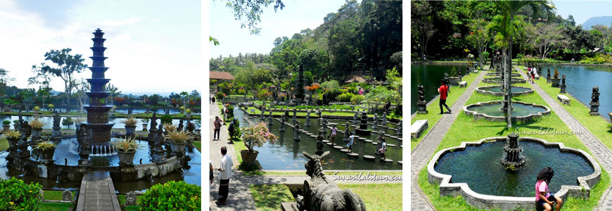
M410 179L412 180L412 187L410 190L410 206L412 210L435 210L433 205L431 205L429 202L427 196L425 196L421 188L419 188L419 184L416 182L417 178L419 177L419 172L421 172L421 169L431 158L435 152L435 148L438 148L440 141L442 141L442 138L444 138L454 120L457 119L457 115L461 113L466 101L468 101L468 98L470 98L476 87L478 87L478 84L480 84L480 80L483 79L485 73L486 71L480 71L478 73L478 77L474 79L468 89L464 91L464 94L461 94L461 96L459 96L457 101L455 101L450 108L452 110L452 114L445 114L442 116L442 118L438 120L438 123L429 130L429 133L426 134L426 136L423 137L423 140L421 140L416 148L414 148L414 151L412 151L410 155Z

